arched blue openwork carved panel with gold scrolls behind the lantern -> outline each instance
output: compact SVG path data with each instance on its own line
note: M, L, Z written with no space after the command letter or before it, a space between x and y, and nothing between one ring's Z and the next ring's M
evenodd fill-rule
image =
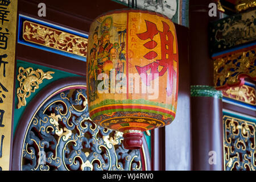
M90 122L85 89L50 98L28 126L22 170L142 170L139 150L125 150L122 133Z

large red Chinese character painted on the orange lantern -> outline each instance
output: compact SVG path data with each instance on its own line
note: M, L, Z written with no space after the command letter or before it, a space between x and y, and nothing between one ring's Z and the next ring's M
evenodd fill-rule
M156 43L153 38L155 35L160 35L161 41L161 56L162 59L153 61L152 63L145 65L144 67L135 66L139 75L142 73L146 74L146 77L141 77L144 84L150 86L150 81L156 78L155 75L163 76L167 71L167 83L172 83L174 77L174 61L177 60L177 53L174 54L174 35L170 31L170 27L166 22L163 22L163 31L159 31L156 27L155 23L149 22L145 20L147 31L141 34L137 34L138 38L141 40L151 39L149 42L145 43L143 46L147 49L154 49L158 43ZM158 53L155 51L150 51L146 53L143 57L148 60L155 59L158 56ZM160 71L158 71L158 67L163 67ZM150 77L147 75L147 71L150 69ZM156 74L155 74L156 73ZM176 74L175 74L176 76ZM172 93L172 84L167 84L167 96L171 96Z

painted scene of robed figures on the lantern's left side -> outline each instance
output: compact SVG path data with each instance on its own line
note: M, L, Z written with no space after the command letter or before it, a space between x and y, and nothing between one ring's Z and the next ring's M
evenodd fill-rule
M117 26L117 27L115 27ZM110 31L118 30L120 27L117 23L113 26L111 16L106 17L102 22L98 22L92 34L92 47L88 56L88 91L89 100L94 101L98 98L98 75L106 73L110 75L113 69L116 76L118 73L125 73L126 69L126 29L117 31L117 34L110 36ZM104 80L108 85L108 80Z

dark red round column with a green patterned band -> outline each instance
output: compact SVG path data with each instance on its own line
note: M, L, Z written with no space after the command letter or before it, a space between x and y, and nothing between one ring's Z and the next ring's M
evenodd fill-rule
M222 101L213 86L209 55L210 0L189 1L191 56L192 170L224 170ZM218 13L217 13L218 16Z

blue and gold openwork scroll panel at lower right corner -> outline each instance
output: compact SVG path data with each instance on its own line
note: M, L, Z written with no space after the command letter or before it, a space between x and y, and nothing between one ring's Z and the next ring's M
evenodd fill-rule
M223 121L226 171L255 171L255 123L228 115L224 115Z

